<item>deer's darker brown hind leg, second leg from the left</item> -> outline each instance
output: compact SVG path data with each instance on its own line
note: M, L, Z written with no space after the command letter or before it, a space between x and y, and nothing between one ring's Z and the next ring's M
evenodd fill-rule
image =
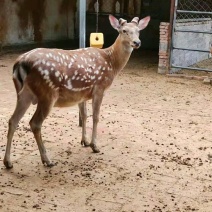
M43 164L46 164L48 167L51 167L54 164L49 160L46 154L46 148L43 144L42 136L41 136L41 127L42 127L43 121L46 119L52 107L53 107L52 101L48 101L48 100L38 101L37 109L32 119L30 120L30 127L32 129L32 132L34 134L35 140L38 145L41 161Z

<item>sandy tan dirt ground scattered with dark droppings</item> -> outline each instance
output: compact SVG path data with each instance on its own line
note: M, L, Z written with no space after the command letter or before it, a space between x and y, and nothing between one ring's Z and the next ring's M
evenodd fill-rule
M0 211L212 211L211 85L159 75L157 55L133 53L103 100L101 153L80 145L77 107L54 108L42 129L56 166L43 166L28 124L32 106L14 136L14 168L6 170L17 55L0 58Z

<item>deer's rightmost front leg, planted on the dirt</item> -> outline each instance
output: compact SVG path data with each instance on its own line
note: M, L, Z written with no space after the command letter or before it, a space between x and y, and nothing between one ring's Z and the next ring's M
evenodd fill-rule
M100 106L102 103L103 98L103 92L98 92L98 94L95 94L93 96L92 101L92 107L93 107L93 131L92 131L92 140L90 143L90 147L93 150L94 153L100 152L96 145L96 139L97 139L97 124L99 122L99 112L100 112Z

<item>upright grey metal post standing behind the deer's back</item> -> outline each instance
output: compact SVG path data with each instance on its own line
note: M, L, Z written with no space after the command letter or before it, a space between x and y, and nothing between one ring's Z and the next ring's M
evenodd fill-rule
M79 0L79 47L85 48L86 41L86 0ZM79 126L82 127L82 119L79 112Z

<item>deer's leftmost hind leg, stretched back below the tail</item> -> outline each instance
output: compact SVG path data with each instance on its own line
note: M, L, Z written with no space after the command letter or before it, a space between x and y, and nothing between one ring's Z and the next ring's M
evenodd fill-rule
M24 116L25 112L29 108L31 102L33 99L32 93L28 90L27 87L23 87L23 89L20 91L19 94L17 94L17 104L15 111L12 115L12 117L9 120L9 129L7 134L7 146L6 146L6 152L4 156L4 165L6 168L12 168L13 165L10 160L10 151L11 151L11 144L12 144L12 138L14 135L14 132L18 126L19 121Z

